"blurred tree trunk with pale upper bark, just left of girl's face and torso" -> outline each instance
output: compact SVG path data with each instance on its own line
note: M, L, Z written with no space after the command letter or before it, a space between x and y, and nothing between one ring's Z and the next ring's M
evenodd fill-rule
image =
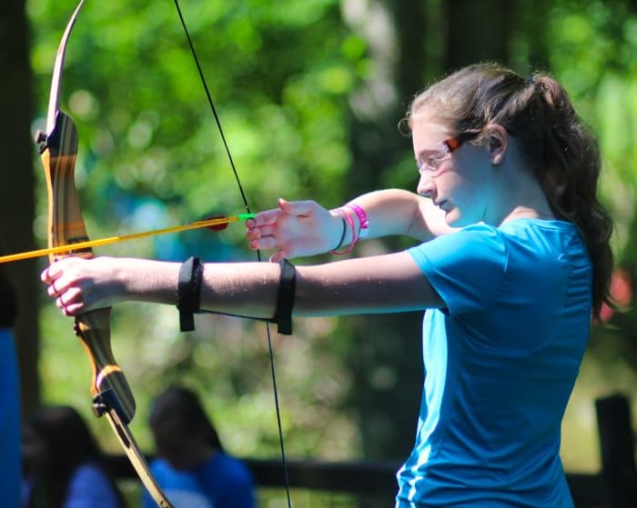
M410 154L410 139L397 128L399 119L425 78L440 74L440 45L427 45L427 2L371 1L368 7L366 16L348 20L368 41L377 70L351 100L353 165L346 198L392 181L397 185L389 168ZM383 245L398 248L395 239ZM377 246L386 248L364 243L357 249ZM421 313L357 316L342 320L339 328L339 336L349 340L345 359L353 378L344 403L359 423L369 459L405 460L413 446L423 383L421 320ZM372 508L369 503L361 505ZM373 507L390 504L393 496Z

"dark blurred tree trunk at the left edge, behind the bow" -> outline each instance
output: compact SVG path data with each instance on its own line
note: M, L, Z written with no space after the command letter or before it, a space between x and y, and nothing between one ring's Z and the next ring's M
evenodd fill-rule
M31 67L28 58L25 0L8 0L0 10L0 103L5 121L0 123L0 251L5 254L35 248L34 144ZM6 266L15 286L17 321L15 338L22 384L23 412L39 401L37 376L37 271L34 260Z

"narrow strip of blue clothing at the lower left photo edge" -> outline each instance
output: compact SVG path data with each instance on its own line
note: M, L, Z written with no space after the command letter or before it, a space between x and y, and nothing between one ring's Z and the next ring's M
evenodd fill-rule
M0 493L6 508L20 506L20 381L14 335L0 327Z

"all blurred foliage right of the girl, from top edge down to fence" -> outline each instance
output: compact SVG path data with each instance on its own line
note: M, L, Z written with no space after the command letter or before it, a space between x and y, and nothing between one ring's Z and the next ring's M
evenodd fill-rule
M602 199L612 211L617 264L637 280L634 258L637 173L637 12L630 2L554 3L547 16L551 72L598 134ZM591 346L563 423L562 460L574 471L599 468L593 399L621 391L635 400L634 311L614 328L593 327Z

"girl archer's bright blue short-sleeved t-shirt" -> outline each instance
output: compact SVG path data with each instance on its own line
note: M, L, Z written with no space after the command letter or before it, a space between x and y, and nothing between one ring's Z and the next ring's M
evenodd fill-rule
M476 224L409 250L444 309L397 506L572 507L561 418L591 321L591 261L561 221Z

